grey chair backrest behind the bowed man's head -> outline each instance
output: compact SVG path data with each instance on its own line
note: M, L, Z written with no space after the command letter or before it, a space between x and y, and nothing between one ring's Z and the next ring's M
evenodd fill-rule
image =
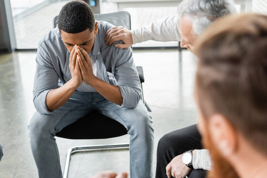
M57 26L57 17L58 16L55 16L53 18L53 28ZM131 30L131 15L129 12L126 11L94 14L94 19L97 21L103 20L115 26L123 26Z

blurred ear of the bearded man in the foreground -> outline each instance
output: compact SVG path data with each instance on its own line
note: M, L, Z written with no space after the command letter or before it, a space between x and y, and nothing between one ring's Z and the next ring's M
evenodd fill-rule
M229 156L236 151L237 132L223 115L215 114L209 118L208 128L214 145L222 155Z

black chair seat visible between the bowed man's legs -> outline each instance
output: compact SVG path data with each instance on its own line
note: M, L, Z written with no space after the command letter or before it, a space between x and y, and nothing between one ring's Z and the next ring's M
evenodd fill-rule
M100 139L122 136L127 133L121 123L97 111L91 111L85 117L56 133L56 136L69 139Z

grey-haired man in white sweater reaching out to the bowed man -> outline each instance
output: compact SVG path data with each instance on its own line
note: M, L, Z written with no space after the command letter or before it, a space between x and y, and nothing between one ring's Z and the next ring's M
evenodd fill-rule
M148 40L179 41L181 47L194 53L196 39L211 23L235 12L232 0L183 0L179 4L177 15L156 20L150 25L132 31L123 27L113 27L107 31L105 40L108 45L122 40L124 44L115 44L119 48L128 48L135 43ZM188 164L185 164L185 159L182 160L186 151L191 160ZM184 178L186 175L189 178L203 178L203 169L210 168L209 152L202 149L201 136L196 125L166 134L160 139L156 178Z

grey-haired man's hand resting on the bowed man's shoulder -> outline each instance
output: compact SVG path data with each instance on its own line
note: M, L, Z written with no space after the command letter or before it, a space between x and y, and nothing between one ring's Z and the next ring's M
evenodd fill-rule
M131 31L119 26L112 27L106 32L106 45L112 45L116 41L123 41L123 44L116 44L115 47L119 48L129 48L133 45L133 37Z

